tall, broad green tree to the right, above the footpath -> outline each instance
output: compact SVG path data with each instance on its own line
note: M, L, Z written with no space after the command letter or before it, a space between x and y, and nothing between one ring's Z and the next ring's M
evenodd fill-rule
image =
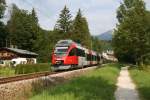
M123 0L117 11L119 24L115 30L113 45L121 61L143 64L150 53L148 18L142 0Z

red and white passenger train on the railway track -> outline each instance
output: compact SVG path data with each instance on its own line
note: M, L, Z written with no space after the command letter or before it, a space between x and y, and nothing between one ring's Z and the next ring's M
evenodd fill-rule
M52 54L53 70L83 68L102 63L101 54L84 48L72 40L57 42Z

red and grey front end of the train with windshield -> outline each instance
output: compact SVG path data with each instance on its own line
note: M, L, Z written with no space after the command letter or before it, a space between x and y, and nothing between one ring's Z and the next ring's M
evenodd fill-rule
M57 42L52 54L52 70L66 70L71 67L71 62L68 61L71 44L71 40L60 40Z

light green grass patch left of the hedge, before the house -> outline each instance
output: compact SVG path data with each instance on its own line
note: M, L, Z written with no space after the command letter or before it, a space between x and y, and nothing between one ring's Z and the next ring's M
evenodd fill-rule
M15 69L10 67L0 68L0 77L9 77L15 75Z

